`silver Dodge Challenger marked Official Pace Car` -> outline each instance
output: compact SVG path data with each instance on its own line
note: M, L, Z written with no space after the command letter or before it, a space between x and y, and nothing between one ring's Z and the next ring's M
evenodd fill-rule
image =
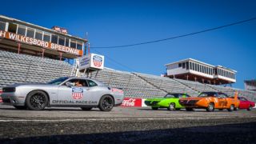
M46 106L98 107L110 111L122 104L124 94L90 78L61 77L46 84L14 84L2 88L2 104L17 109L43 110Z

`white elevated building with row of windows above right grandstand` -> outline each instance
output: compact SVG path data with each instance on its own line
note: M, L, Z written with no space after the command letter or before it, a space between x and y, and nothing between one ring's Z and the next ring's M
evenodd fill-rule
M237 71L224 66L213 66L205 62L188 58L166 64L167 77L180 78L215 85L236 82Z

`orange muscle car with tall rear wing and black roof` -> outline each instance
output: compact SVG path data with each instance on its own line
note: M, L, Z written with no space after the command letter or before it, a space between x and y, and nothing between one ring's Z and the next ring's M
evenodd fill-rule
M190 111L194 108L214 111L214 109L229 111L236 110L239 106L238 93L234 97L228 97L222 92L202 92L198 97L180 98L179 103Z

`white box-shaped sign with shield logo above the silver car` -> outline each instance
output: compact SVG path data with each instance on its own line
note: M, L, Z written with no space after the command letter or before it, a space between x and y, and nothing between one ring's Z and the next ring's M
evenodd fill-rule
M104 68L104 56L99 54L88 54L80 57L79 70L87 68L100 69Z

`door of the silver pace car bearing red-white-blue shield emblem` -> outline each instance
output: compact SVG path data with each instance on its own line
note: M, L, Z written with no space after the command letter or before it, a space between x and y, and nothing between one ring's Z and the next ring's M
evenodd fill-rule
M82 86L74 86L74 82L79 81ZM64 83L58 87L58 100L55 102L57 105L90 105L92 94L90 94L90 88L86 79L83 78L72 78L70 82L73 86L66 86Z

